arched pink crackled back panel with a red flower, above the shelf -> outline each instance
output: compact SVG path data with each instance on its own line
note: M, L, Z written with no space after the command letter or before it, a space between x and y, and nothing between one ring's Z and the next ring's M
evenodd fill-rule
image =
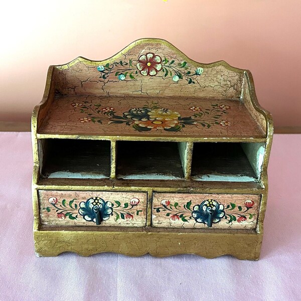
M239 99L242 72L187 60L170 45L135 42L104 62L77 60L55 70L62 94L222 97Z

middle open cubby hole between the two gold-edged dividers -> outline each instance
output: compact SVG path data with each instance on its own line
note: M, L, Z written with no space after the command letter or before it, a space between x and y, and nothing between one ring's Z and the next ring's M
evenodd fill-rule
M117 141L116 178L183 180L181 160L185 159L180 156L180 145L177 142Z

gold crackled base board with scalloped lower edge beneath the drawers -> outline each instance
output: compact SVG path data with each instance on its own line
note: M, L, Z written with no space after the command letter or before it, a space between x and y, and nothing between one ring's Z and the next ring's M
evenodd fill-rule
M136 232L45 229L34 231L35 249L37 256L57 256L63 252L89 256L113 252L129 256L150 254L165 257L188 253L206 258L232 255L238 259L259 259L262 233L212 229L186 232L172 232L171 229L160 231L154 232L154 229L150 228Z

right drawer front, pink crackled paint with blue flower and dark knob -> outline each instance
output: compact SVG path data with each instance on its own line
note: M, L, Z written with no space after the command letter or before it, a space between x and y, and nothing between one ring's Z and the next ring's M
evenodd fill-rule
M154 193L153 227L255 229L261 195Z

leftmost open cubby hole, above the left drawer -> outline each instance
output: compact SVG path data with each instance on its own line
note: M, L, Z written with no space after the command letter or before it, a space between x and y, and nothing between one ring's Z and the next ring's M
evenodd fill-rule
M110 177L110 141L40 139L43 178L105 179Z

